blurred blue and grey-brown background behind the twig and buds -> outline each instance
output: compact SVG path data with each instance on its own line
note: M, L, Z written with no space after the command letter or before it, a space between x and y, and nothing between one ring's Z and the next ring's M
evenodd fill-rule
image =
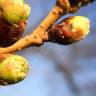
M55 0L26 0L31 16L25 34L47 16ZM45 43L17 52L28 59L30 72L25 80L0 86L0 96L96 96L96 2L76 14L91 20L91 32L78 43L64 46Z

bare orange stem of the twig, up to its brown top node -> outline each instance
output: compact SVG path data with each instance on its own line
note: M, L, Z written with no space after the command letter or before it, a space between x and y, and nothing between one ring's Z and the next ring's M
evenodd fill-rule
M59 0L57 0L59 1ZM62 8L59 2L56 3L56 6L51 10L48 16L42 21L42 23L34 30L30 35L27 35L21 38L12 46L6 48L0 48L0 53L12 53L15 51L20 51L23 48L26 48L30 45L42 45L44 40L48 40L48 35L46 30L64 13L66 13L66 8ZM65 4L66 5L66 4Z

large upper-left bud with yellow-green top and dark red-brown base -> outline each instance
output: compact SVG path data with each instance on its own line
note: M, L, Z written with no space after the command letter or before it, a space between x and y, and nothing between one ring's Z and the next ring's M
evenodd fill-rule
M26 28L30 6L24 0L0 0L0 47L19 40Z

